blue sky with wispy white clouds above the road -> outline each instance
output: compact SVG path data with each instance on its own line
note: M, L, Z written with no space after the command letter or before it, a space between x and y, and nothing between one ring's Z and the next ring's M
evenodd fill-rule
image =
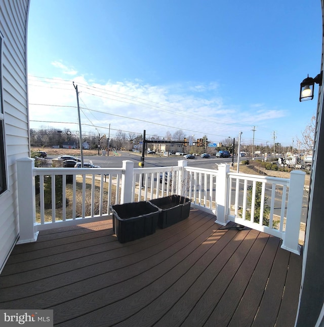
M30 127L297 147L316 113L320 1L30 0Z

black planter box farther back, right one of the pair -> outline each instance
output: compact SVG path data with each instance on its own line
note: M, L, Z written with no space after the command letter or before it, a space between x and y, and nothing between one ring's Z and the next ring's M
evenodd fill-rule
M150 203L161 209L157 226L166 228L188 218L191 200L180 195L172 195L150 200Z

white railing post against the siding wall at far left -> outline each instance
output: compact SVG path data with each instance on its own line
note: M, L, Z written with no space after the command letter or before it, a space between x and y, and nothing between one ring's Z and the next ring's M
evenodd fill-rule
M19 240L17 244L36 242L35 232L35 178L33 176L34 159L17 160Z

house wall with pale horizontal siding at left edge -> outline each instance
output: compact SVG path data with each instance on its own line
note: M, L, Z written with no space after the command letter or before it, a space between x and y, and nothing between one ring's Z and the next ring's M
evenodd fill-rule
M0 271L18 237L16 160L29 157L26 38L29 0L0 1L7 191L0 195Z

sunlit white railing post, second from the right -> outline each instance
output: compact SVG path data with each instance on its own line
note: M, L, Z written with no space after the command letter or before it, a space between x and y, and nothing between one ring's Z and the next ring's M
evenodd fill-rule
M228 204L228 173L229 165L218 165L218 174L216 177L216 221L215 223L225 226L229 221L227 217Z

